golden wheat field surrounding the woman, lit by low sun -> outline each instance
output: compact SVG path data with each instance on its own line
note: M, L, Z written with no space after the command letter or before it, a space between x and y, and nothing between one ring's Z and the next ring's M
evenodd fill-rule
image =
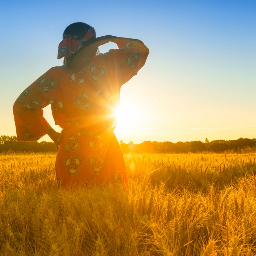
M127 154L128 195L58 189L55 154L0 155L0 255L256 255L255 158Z

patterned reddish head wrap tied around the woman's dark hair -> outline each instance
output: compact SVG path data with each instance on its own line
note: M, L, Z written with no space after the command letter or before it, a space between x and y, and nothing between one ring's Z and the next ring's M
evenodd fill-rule
M81 46L83 46L83 42L87 42L93 36L96 36L96 32L93 27L90 27L82 39L79 40L77 39L76 35L63 35L63 38L65 38L59 44L58 59L61 59L62 57L68 58L71 54L74 54Z

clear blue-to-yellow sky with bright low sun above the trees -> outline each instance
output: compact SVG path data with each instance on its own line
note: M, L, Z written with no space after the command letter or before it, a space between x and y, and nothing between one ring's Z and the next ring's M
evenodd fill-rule
M118 140L256 138L256 1L1 1L0 135L16 135L12 106L57 60L64 29L137 38L150 53L121 88ZM100 48L102 53L115 44ZM54 126L50 107L46 120ZM49 140L46 135L42 140Z

